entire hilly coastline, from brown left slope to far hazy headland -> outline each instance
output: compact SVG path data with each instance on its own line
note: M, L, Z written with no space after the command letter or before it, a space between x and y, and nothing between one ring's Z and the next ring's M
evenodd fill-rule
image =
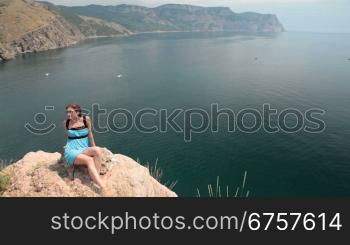
M102 11L96 11L101 8ZM109 8L114 8L113 15L107 11ZM237 14L227 7L181 4L156 8L126 4L67 7L11 0L0 5L0 12L0 62L19 54L66 48L97 38L143 33L285 31L275 15Z

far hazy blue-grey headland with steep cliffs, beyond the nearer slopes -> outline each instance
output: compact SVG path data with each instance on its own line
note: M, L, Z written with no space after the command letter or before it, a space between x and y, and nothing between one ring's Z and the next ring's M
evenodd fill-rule
M166 4L156 8L135 5L63 7L73 13L115 21L134 32L237 31L281 32L275 15L234 13L226 7Z

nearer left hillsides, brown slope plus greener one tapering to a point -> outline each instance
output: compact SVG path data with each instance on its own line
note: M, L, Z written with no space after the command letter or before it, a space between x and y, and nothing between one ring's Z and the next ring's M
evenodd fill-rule
M130 33L116 23L65 13L50 3L0 0L0 61L68 47L92 36Z

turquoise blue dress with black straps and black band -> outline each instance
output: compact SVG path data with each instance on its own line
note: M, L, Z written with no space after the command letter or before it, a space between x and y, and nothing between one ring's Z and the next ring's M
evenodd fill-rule
M89 129L86 126L86 118L83 117L83 127L68 128L69 119L66 122L68 140L64 146L64 158L70 166L73 166L77 156L89 147Z

